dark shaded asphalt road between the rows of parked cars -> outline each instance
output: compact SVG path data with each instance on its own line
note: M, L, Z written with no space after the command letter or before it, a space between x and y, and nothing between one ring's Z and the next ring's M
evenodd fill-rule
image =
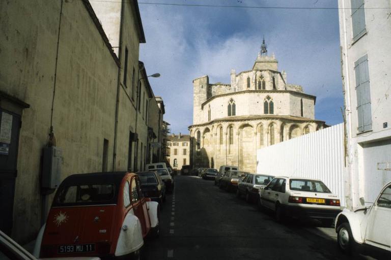
M199 177L176 176L163 206L160 237L143 250L147 260L353 259L338 250L333 229L316 221L277 223L271 213Z

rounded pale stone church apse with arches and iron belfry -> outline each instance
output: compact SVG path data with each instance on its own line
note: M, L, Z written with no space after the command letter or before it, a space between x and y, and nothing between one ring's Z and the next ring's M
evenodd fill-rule
M234 165L255 172L256 150L325 127L315 119L316 97L287 82L265 41L249 71L231 71L231 83L193 80L193 167Z

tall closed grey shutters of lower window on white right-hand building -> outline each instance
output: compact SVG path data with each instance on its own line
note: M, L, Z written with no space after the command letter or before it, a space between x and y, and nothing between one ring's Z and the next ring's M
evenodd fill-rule
M358 132L372 130L371 87L369 81L368 55L354 62L357 94Z

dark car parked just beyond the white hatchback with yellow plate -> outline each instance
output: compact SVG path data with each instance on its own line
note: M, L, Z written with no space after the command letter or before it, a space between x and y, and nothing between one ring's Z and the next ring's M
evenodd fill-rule
M254 201L258 198L259 189L265 187L274 178L271 175L265 174L248 174L243 181L239 182L236 196L245 197L246 202Z

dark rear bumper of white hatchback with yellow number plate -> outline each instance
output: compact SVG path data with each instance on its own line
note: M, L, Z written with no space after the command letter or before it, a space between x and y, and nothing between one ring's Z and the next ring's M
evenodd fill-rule
M316 219L334 219L341 212L340 209L305 208L291 205L284 205L283 209L288 216Z

